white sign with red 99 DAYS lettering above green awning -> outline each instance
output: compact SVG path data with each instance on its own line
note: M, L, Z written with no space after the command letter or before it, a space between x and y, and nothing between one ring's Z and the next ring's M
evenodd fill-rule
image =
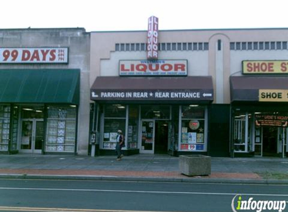
M0 63L68 63L68 48L0 48Z

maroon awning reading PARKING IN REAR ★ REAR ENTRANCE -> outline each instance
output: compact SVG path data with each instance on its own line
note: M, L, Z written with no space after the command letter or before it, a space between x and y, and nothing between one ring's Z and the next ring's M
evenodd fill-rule
M99 76L90 89L90 99L213 101L213 82L211 76Z

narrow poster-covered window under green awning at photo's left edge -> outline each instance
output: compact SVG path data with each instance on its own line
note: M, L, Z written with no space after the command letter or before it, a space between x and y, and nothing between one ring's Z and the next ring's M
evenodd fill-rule
M0 105L0 151L8 151L10 106Z

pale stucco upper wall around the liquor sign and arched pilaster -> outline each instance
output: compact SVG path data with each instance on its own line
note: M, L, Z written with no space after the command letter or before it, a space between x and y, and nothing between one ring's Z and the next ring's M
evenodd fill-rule
M97 76L118 75L118 62L145 59L145 51L115 51L115 45L146 43L146 31L91 32L90 86ZM218 48L220 41L221 48ZM159 59L187 59L188 75L211 75L213 103L230 103L230 75L241 75L242 60L286 59L287 50L230 50L231 42L288 41L288 29L223 29L159 31L159 43L209 43L209 51L159 51ZM240 72L239 72L240 71Z

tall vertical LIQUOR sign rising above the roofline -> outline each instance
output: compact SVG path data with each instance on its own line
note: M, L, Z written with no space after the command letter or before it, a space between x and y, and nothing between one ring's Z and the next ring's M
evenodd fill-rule
M158 59L158 18L151 16L148 19L147 59Z

